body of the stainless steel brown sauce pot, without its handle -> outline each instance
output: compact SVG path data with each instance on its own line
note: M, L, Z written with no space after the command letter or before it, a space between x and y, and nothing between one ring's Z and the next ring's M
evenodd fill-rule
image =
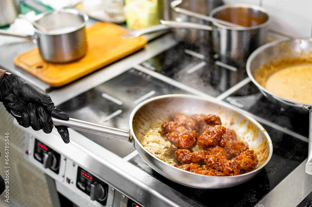
M210 16L244 26L236 28L213 22L213 49L225 62L245 64L251 52L266 43L270 17L262 7L226 5L212 10Z

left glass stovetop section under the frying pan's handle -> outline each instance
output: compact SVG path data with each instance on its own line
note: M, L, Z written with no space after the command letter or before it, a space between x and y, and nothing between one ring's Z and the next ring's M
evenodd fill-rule
M148 98L174 93L188 94L180 88L131 68L66 101L58 108L74 119L129 130L129 117L135 106ZM101 135L81 131L79 133L121 158L134 151L134 147L125 140L103 138Z

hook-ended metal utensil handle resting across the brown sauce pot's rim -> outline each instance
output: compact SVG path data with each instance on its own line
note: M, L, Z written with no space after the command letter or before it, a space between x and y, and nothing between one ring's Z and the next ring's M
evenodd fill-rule
M172 1L170 3L170 7L175 12L178 12L178 13L181 13L181 14L185 14L185 15L188 15L188 16L193 16L195 18L202 19L202 20L205 20L205 21L210 21L210 22L214 21L214 22L217 22L219 24L223 24L223 25L226 25L226 26L232 26L232 27L238 27L238 28L243 27L241 25L234 24L234 23L229 22L229 21L224 21L222 19L217 19L217 18L214 18L212 16L206 16L206 15L203 15L203 14L200 14L200 13L197 13L197 12L193 12L193 11L189 11L189 10L184 9L184 8L177 7L181 3L182 3L182 0Z

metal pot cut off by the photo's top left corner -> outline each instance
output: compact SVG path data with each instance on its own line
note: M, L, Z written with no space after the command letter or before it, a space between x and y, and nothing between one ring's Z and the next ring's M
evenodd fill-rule
M19 14L19 0L0 0L0 27L14 22Z

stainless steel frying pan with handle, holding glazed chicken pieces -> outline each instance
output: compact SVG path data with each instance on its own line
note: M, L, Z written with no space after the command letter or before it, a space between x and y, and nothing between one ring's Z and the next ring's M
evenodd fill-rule
M161 125L166 120L170 120L172 113L187 115L212 113L219 115L222 125L234 129L238 137L248 143L249 148L254 149L258 154L258 168L237 176L206 176L181 170L156 158L154 154L143 147L142 140L151 128ZM135 107L130 115L129 131L81 120L70 119L64 121L55 118L52 120L54 125L62 125L72 129L128 140L129 143L134 145L145 162L155 171L174 182L194 188L216 189L244 183L256 176L269 162L273 150L269 134L256 120L244 115L243 111L221 101L208 100L204 97L192 95L164 95L142 102Z

